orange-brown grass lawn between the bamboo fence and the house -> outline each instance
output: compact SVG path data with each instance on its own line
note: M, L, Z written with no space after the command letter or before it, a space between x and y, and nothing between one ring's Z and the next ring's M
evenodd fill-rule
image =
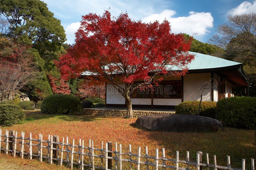
M95 148L100 148L101 141L104 143L112 141L113 143L122 143L122 150L126 153L129 144L132 144L132 153L137 153L138 146L141 146L141 153L145 154L145 146L148 146L149 156L155 156L155 149L158 148L159 157L161 157L161 150L165 148L167 158L175 158L175 151L180 151L180 160L185 160L186 151L189 151L190 161L193 162L196 162L196 152L202 151L203 162L206 162L205 153L209 153L210 163L213 164L213 155L216 155L217 165L221 166L227 165L226 157L229 155L231 167L237 168L241 168L242 158L244 158L246 159L246 168L250 169L251 158L256 158L256 146L252 144L254 142L254 131L252 130L224 128L223 132L217 133L145 131L134 127L136 118L49 115L42 114L38 110L26 112L26 115L26 120L21 124L0 128L3 132L5 129L18 131L19 136L20 132L24 131L25 137L32 132L32 137L36 139L41 133L44 140L48 134L59 135L60 139L68 136L69 143L74 138L76 144L78 144L79 138L85 141L92 139ZM4 159L3 157L6 156L2 155L0 161ZM13 162L20 164L21 161L15 158ZM43 169L48 167L42 163L34 164L42 166ZM49 167L51 166L49 165Z

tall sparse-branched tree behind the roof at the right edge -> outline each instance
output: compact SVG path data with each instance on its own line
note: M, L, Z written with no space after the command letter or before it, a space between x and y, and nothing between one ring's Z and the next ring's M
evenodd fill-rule
M252 83L249 95L256 96L256 13L228 16L228 23L220 25L210 41L225 49L223 58L244 64ZM248 91L237 87L236 95L248 95Z

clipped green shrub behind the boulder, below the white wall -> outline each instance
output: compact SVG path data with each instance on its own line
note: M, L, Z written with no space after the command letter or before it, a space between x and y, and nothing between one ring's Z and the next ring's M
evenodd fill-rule
M185 101L175 107L176 114L198 115L200 101ZM200 116L215 119L216 102L202 101Z

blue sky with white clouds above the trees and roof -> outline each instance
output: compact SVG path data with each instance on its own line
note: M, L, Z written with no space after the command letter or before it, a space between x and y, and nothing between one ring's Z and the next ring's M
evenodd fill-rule
M208 42L218 25L227 22L228 15L256 12L256 0L44 0L54 16L61 20L67 34L66 43L74 43L81 16L100 14L110 7L118 16L127 12L135 20L171 22L172 32L193 35Z

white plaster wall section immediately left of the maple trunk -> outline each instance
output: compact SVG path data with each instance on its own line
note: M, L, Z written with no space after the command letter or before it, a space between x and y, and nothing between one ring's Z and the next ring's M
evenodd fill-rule
M107 83L106 104L125 104L124 97L116 90L112 83Z

